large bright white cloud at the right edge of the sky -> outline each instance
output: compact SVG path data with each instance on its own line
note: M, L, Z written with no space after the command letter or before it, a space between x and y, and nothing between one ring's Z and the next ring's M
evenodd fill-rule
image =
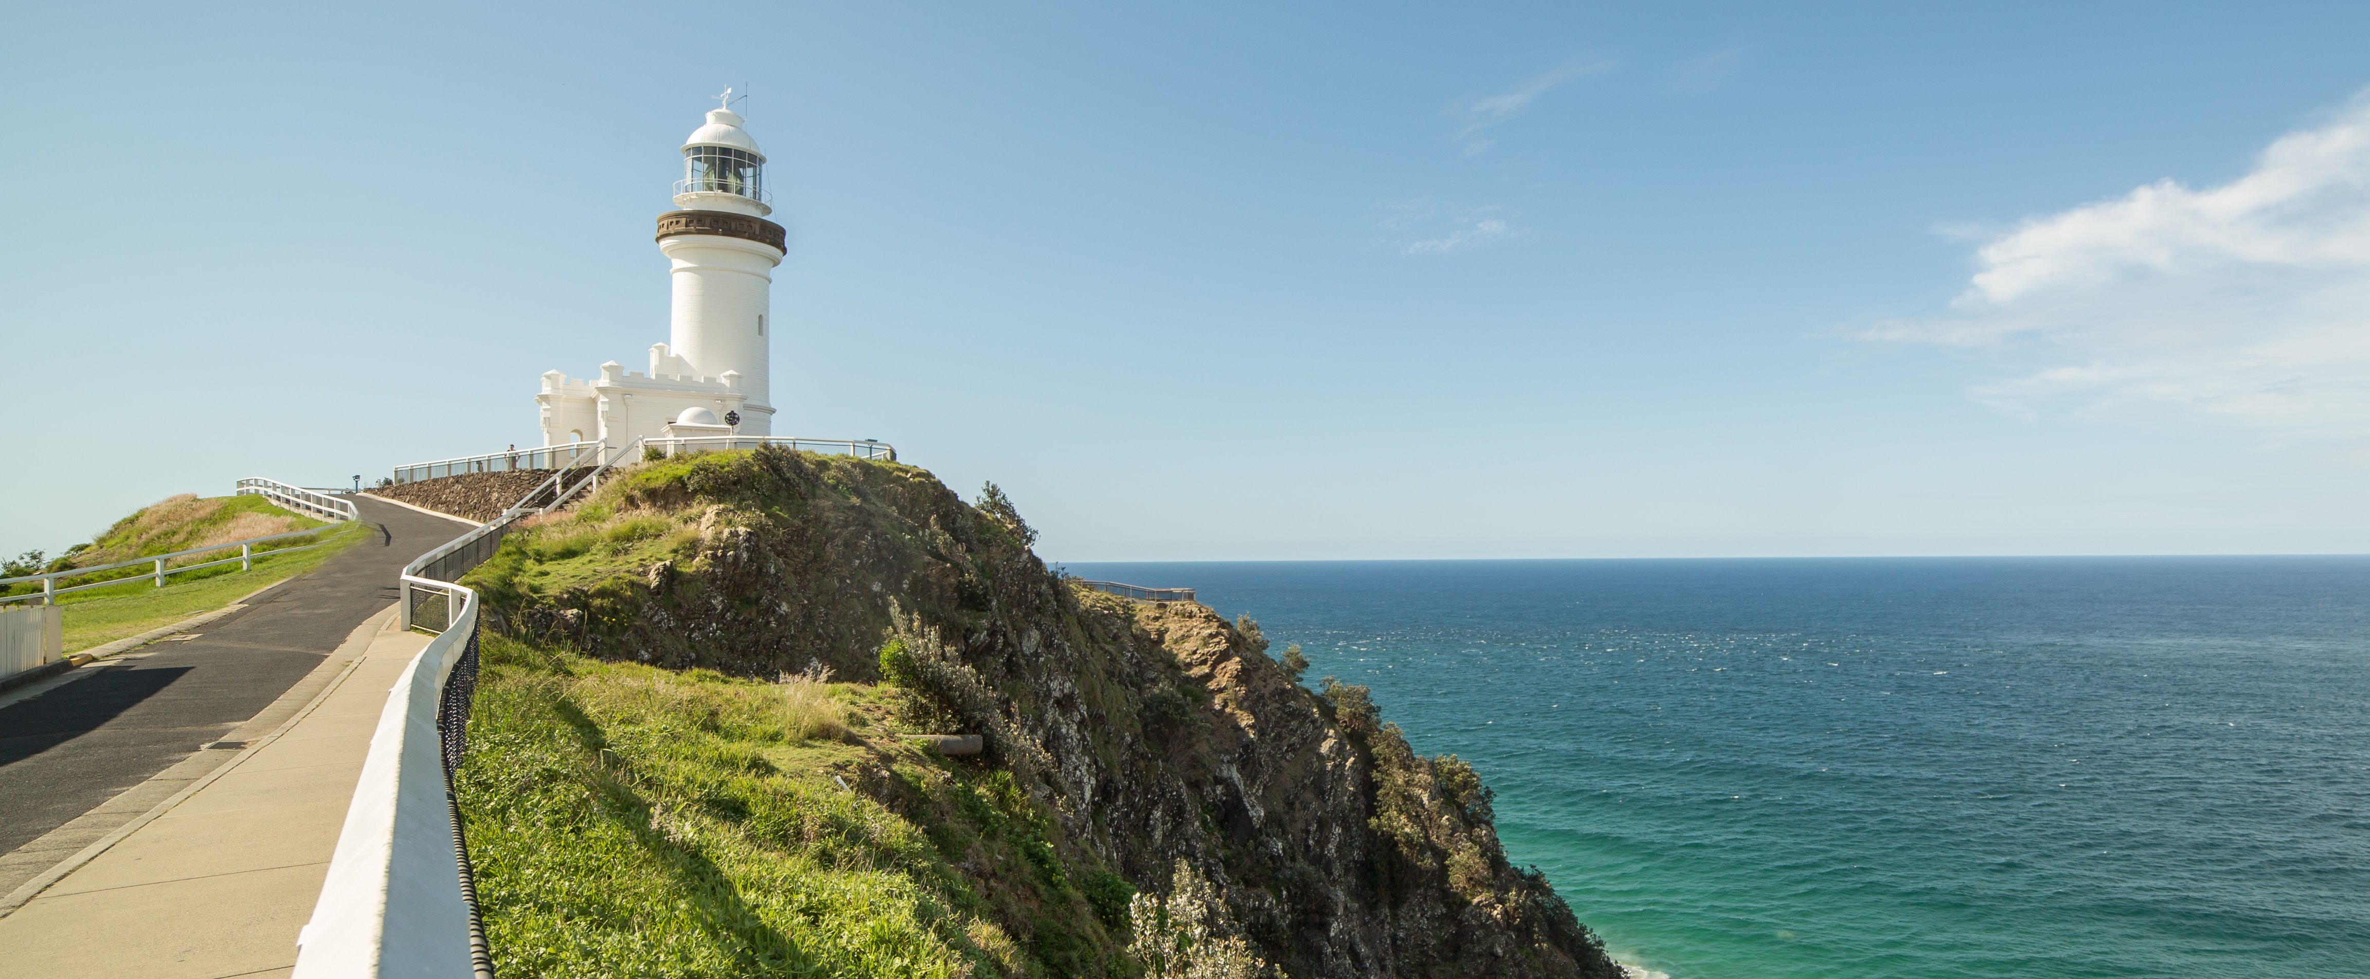
M2273 441L2370 439L2370 92L2237 180L2159 180L1974 256L1951 311L1868 334L2052 344L2064 365L1974 391L2014 412L2171 405Z

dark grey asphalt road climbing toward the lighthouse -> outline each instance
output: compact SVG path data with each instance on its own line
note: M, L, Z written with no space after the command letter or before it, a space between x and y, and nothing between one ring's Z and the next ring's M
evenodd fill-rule
M396 602L396 574L467 526L356 498L379 533L187 642L0 709L0 853L83 815L256 716Z

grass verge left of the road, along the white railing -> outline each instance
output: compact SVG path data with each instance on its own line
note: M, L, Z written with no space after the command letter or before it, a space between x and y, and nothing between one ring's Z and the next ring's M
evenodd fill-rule
M256 555L254 571L223 564L204 571L171 574L164 578L164 588L156 588L149 578L133 578L109 588L59 595L57 604L66 609L66 652L90 650L171 626L199 612L220 609L239 600L239 595L320 567L329 555L351 548L365 536L370 533L365 533L363 524L344 524L322 531L327 548ZM292 543L301 545L306 538L292 538ZM225 555L235 557L237 550L225 550ZM216 555L201 557L211 559Z

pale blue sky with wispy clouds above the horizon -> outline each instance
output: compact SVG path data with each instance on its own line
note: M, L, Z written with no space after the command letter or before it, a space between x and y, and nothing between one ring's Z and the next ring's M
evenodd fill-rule
M2370 550L2370 7L1773 7L14 9L0 552L533 443L728 85L1050 559Z

